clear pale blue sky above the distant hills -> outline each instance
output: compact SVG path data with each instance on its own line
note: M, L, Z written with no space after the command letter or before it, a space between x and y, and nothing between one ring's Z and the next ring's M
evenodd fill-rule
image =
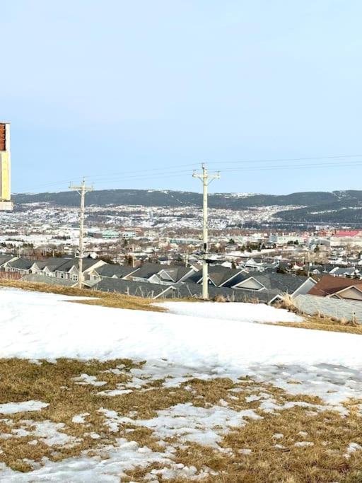
M0 10L13 192L66 190L82 176L97 190L201 191L202 162L221 170L211 192L361 189L359 0Z

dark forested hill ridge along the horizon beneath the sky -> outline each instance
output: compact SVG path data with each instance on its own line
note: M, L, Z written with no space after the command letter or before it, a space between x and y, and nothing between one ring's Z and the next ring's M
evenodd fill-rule
M76 192L14 194L16 204L49 202L57 206L78 206ZM87 194L87 204L142 206L201 206L202 194L170 190L100 190ZM261 206L296 206L280 211L284 221L341 221L362 219L362 191L299 192L291 194L217 193L209 195L209 206L219 209L247 209Z

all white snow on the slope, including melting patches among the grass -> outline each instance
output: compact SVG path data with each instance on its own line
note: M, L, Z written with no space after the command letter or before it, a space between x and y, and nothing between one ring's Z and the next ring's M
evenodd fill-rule
M119 475L129 468L155 462L165 465L165 469L150 472L147 481L173 477L199 479L213 475L213 470L177 467L173 454L182 445L198 443L222 450L220 444L228 431L261 419L261 414L303 407L316 413L335 409L345 415L348 409L344 402L351 397L362 398L361 337L255 323L300 320L286 310L248 303L166 302L162 306L169 313L156 313L69 303L69 300L74 298L1 289L0 357L30 359L35 367L42 364L40 359L52 363L59 358L146 361L131 368L127 378L122 365L105 371L111 372L112 377L124 377L112 388L107 385L107 378L103 380L101 376L81 373L73 378L74 385L91 388L95 395L110 402L136 392L141 395L156 391L157 387L152 386L156 381L162 381L158 387L171 392L180 388L194 391L194 380L211 383L218 378L230 378L235 386L212 405L199 407L192 402L180 402L158 410L155 417L140 417L137 412L120 414L99 407L97 411L104 419L105 429L117 436L115 446L107 448L109 458L102 461L84 453L59 462L31 463L33 471L25 473L6 465L1 467L0 463L0 482L118 482ZM251 386L247 389L242 409L233 406L233 400L244 390L240 378L252 378L255 384L253 390ZM298 397L281 402L270 391L263 390L270 383L290 395L318 396L320 403L303 402ZM55 445L54 450L57 445L76 445L79 438L67 436L63 423L31 422L32 415L42 414L48 405L47 400L1 401L0 424L11 426L8 418L18 412L24 419L20 429L11 430L11 436L1 435L0 430L0 448L1 438L6 441L19 435L33 438L30 441L35 442L28 444L36 445L42 440L48 446ZM88 412L73 414L71 422L86 428L88 416ZM119 431L127 424L151 429L163 450L155 452L123 438ZM88 437L97 440L100 435L93 431ZM175 443L168 443L168 438ZM296 441L296 448L310 446L309 443L301 438ZM248 454L247 448L241 450L245 452L240 454Z

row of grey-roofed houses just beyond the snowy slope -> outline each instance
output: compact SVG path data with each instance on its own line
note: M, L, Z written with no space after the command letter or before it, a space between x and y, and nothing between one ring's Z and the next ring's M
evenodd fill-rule
M126 293L147 298L189 298L202 296L202 269L193 265L146 263L141 267L107 264L103 260L83 260L83 280L89 289ZM0 271L28 281L75 286L78 259L52 257L28 260L11 255L0 256ZM221 265L209 267L211 298L222 296L230 301L272 303L284 293L291 296L308 293L315 284L310 277L276 272L248 272Z

